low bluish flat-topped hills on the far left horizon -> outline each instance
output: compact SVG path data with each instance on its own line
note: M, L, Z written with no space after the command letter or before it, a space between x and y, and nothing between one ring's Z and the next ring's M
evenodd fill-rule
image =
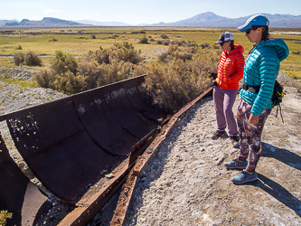
M30 21L27 19L19 22L7 22L4 26L13 27L13 26L26 26L26 27L63 27L63 26L82 26L87 24L80 24L72 21L65 21L52 17L44 17L42 21ZM0 25L1 26L1 25Z

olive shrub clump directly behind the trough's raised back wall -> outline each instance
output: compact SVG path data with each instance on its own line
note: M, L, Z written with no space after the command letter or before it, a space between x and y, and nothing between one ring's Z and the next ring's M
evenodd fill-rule
M127 42L108 49L99 48L79 61L71 54L56 52L50 70L35 73L33 79L40 87L73 94L130 78L133 62L142 59L139 54Z

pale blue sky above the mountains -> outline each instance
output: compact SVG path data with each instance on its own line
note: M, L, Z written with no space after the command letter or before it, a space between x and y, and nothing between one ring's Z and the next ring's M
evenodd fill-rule
M0 20L94 20L126 24L171 23L212 12L229 18L250 14L301 14L301 0L0 0Z

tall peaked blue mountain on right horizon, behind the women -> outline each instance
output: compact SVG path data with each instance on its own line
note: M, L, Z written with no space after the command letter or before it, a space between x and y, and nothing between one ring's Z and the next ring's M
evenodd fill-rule
M270 27L301 27L301 15L264 14L268 17ZM240 18L227 18L212 12L197 14L189 19L174 22L150 24L149 26L200 26L200 27L236 27L244 24L251 15Z

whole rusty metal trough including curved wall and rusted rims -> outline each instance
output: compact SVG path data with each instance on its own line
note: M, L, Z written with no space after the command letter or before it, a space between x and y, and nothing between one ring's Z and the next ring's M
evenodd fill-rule
M142 75L0 116L33 174L73 207L60 226L87 225L121 184L135 179L176 118L212 95L212 88L207 89L168 121L147 101L144 80ZM145 150L147 156L138 157ZM116 169L114 179L82 199L91 184L104 179L102 172ZM126 184L112 225L122 225L132 189ZM15 164L0 133L0 211L13 212L9 225L39 225L51 208L47 196Z

